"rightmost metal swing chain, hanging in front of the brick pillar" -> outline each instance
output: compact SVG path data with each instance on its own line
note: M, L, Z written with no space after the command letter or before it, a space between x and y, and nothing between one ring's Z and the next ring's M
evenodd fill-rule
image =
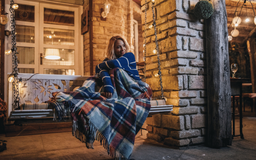
M153 13L153 25L154 25L154 30L155 30L155 41L156 41L156 51L157 51L157 61L158 61L158 75L159 75L159 82L160 82L160 86L161 86L161 95L159 96L159 99L164 99L164 92L163 92L163 85L162 85L162 72L161 72L161 67L160 67L160 58L159 58L159 49L158 49L158 43L157 43L157 35L156 35L156 20L155 20L155 12L154 12L154 5L155 3L152 3L152 13ZM156 98L154 98L155 100Z

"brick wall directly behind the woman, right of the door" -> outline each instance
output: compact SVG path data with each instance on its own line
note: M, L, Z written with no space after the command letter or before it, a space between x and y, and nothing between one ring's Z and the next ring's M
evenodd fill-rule
M93 68L104 60L104 53L112 36L123 36L131 45L131 52L134 52L133 45L133 22L134 13L141 14L140 6L132 0L109 0L110 11L106 21L100 19L100 9L104 1L93 0ZM89 10L89 0L84 0L84 9ZM89 33L84 35L84 75L90 75L90 52ZM95 72L95 70L94 70Z

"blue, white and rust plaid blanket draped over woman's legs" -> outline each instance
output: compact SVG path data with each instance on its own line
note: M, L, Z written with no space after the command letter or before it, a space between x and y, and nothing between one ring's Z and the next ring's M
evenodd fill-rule
M88 78L74 92L55 92L51 103L60 120L70 111L72 134L93 148L99 140L115 159L127 160L132 154L135 135L150 110L152 91L148 84L132 79L120 69L109 71L114 86L112 98L103 96L103 83L97 76Z

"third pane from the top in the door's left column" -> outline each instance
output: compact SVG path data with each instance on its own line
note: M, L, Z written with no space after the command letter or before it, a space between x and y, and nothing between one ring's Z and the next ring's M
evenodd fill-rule
M35 48L17 46L18 64L35 64Z

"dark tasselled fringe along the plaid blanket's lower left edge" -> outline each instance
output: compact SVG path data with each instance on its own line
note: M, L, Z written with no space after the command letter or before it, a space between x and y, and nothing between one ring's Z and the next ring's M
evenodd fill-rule
M75 136L81 142L85 143L88 149L90 148L94 149L93 142L94 140L98 140L100 142L100 145L103 144L103 147L108 151L109 156L111 156L115 160L128 160L128 158L124 157L124 155L119 153L115 148L109 146L108 140L106 139L106 137L98 131L98 129L92 124L90 120L84 132L81 132L81 130L79 129L80 127L81 125L78 126L77 122L73 121L72 135ZM90 137L88 137L89 133L93 135L91 139Z

